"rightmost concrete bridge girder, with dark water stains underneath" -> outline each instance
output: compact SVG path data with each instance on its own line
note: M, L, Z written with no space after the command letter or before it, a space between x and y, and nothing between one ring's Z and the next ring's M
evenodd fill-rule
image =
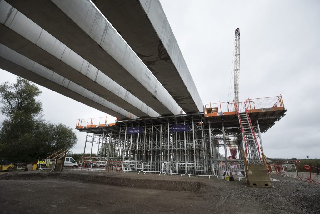
M203 112L196 85L158 0L94 0L186 113Z

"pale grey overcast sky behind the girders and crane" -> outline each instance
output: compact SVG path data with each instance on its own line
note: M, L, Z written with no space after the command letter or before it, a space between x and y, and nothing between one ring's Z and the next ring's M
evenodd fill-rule
M262 134L266 155L320 158L320 1L160 2L204 104L228 101L234 34L240 28L240 100L282 94L288 110ZM0 77L1 83L16 78L1 69ZM106 116L38 87L45 119L53 123L74 128L79 118ZM83 152L85 133L76 134L73 151Z

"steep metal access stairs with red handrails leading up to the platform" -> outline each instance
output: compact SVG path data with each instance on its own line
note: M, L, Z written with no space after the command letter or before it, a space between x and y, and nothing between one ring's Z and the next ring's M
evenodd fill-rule
M236 105L236 110L239 118L239 123L241 127L241 132L244 141L245 153L248 158L248 162L261 164L259 144L256 139L255 133L253 132L253 127L251 124L251 119L249 117L246 106L244 105L245 112L239 112L238 106Z

